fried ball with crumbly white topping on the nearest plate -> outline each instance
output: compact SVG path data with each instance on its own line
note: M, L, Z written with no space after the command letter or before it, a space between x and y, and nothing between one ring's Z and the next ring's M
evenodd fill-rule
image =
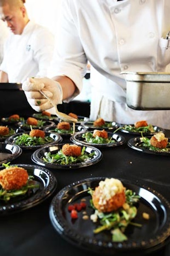
M122 207L125 203L125 187L115 178L106 178L100 181L92 194L94 207L99 212L109 213Z

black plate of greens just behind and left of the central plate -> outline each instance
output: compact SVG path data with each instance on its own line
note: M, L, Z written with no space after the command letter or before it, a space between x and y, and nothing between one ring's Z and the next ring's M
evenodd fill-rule
M29 134L29 132L24 132L24 133ZM23 134L23 132L14 134L14 135L10 136L9 138L7 138L5 142L9 143L9 144L15 144L14 138L16 138L17 136L20 136L22 134ZM20 145L20 147L24 150L36 150L37 148L43 147L45 145L51 145L51 144L59 143L62 141L62 137L57 133L45 132L45 136L51 137L53 139L53 141L48 142L46 144L39 144L39 145L34 145L34 146Z

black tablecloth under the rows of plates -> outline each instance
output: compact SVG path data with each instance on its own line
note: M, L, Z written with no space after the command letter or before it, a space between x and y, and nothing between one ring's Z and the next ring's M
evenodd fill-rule
M8 94L4 94L4 98L1 95L1 109L2 105L3 107L6 106L1 111L1 117L6 117L7 114L22 115L23 113L25 116L29 116L34 112L27 105L22 91L20 95L22 94L24 103L22 103L22 100L18 101L21 96L17 98L15 92L8 93L8 101L11 99L10 105L5 102L5 96ZM14 95L16 96L15 100L13 98ZM80 110L83 107L85 108L85 113L89 112L89 104L88 106L82 103L79 103L79 106L78 103L76 103L77 105L71 104L73 109L68 108L68 112L76 112L75 109ZM124 135L126 140L132 137L125 133L119 132L119 134ZM170 136L170 132L167 131L166 135ZM63 141L63 143L65 142L67 141ZM151 187L170 201L169 157L138 152L129 148L127 143L119 147L101 148L100 150L103 153L103 158L95 165L74 170L55 170L48 168L57 178L56 192L50 198L33 208L0 218L1 256L95 255L66 242L54 230L49 219L48 211L52 198L59 190L74 181L105 176L123 178L140 186ZM31 154L32 151L23 151L17 159L11 161L11 164L34 164L31 161ZM165 249L163 247L158 252L152 252L149 255L169 256Z

